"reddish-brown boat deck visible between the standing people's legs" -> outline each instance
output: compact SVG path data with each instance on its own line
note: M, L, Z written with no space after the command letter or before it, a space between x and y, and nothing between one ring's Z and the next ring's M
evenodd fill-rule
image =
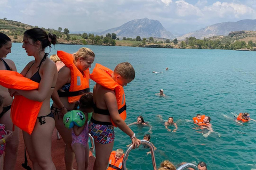
M64 148L65 143L63 142L62 138L60 140L57 139L57 130L54 129L52 134L52 159L53 163L56 166L57 170L65 170L65 161L64 161ZM27 155L28 158L28 155ZM29 159L29 158L28 158ZM18 158L17 162L15 164L15 170L22 170L25 169L21 166L21 164L24 163L24 141L22 136L22 131L20 130L20 142L19 142L19 149L18 149ZM95 158L92 156L92 153L90 152L89 155L89 170L93 169ZM32 168L32 163L30 160L28 160L28 165ZM74 161L73 168L77 169L76 161Z

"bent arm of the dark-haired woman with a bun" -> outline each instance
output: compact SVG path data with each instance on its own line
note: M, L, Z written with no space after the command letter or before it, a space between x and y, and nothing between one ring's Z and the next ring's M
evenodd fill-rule
M37 90L15 90L15 91L17 91L18 94L30 100L42 102L49 95L49 91L51 90L52 82L54 79L54 72L57 72L55 64L47 63L43 66L43 75L39 83L39 88Z

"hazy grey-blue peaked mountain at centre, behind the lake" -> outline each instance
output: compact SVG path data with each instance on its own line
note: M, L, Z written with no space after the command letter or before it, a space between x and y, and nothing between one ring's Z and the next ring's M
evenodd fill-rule
M120 27L108 29L106 31L101 32L100 34L106 35L107 33L116 33L117 37L120 38L136 38L137 36L140 36L141 38L174 38L172 33L166 31L159 21L149 20L147 18L136 19L126 22Z

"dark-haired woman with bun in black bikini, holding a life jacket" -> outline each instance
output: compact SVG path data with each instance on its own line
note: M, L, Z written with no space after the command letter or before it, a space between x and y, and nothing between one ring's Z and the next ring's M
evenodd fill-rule
M51 50L55 45L57 36L47 33L40 28L33 28L24 33L22 48L28 56L35 60L29 62L21 74L26 78L39 83L37 90L10 90L10 94L22 95L30 100L43 102L38 113L36 124L31 135L23 131L25 146L33 169L55 169L51 157L51 141L54 130L54 116L50 110L50 99L55 87L58 73L54 62L44 52L46 47Z

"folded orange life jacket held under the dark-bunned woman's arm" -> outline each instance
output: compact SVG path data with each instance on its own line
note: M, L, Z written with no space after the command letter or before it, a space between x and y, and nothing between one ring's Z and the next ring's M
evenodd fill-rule
M18 72L7 70L0 71L0 84L6 88L18 90L35 90L39 87L39 83L23 77ZM11 107L13 124L31 134L42 104L43 102L30 100L21 95L15 96Z

